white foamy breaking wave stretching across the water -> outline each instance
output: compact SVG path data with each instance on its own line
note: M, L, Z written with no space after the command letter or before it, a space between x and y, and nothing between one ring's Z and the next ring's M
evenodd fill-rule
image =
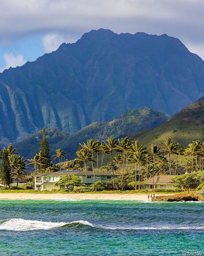
M102 228L109 230L189 230L189 229L204 229L204 226L169 226L169 227L116 227L116 226L103 226L94 225L88 221L71 221L71 222L47 222L47 221L33 221L12 218L0 221L0 230L13 230L13 231L28 231L28 230L49 230L53 228L65 227L70 225L80 224L82 226L90 226L94 228Z

